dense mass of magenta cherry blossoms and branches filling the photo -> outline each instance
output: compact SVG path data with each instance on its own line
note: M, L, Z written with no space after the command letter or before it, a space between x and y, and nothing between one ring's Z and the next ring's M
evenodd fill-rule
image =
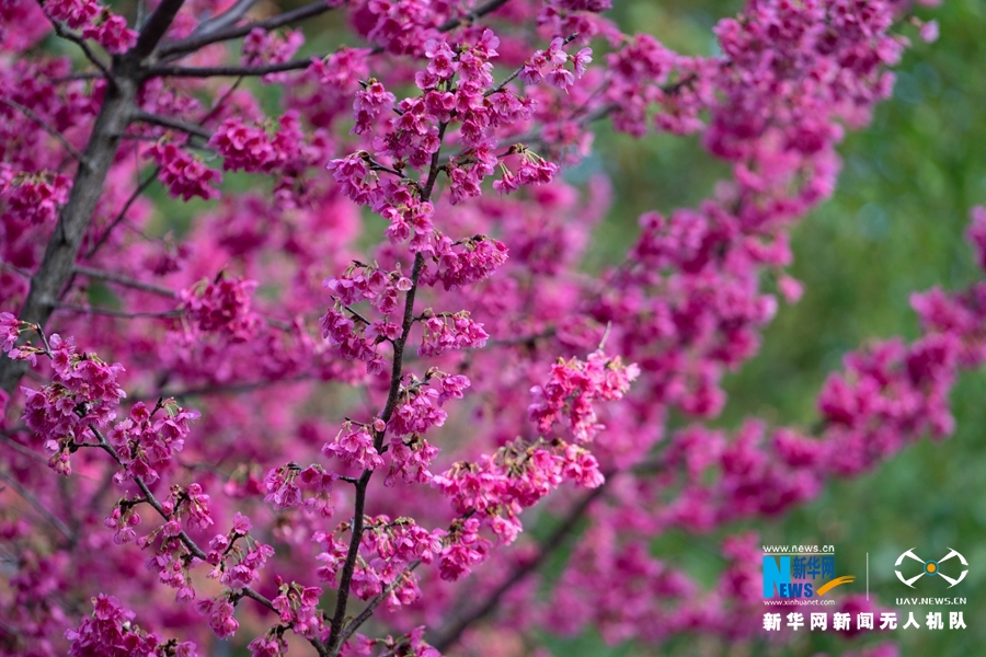
M711 588L654 539L952 431L986 283L916 295L922 335L847 356L813 429L704 424L801 295L788 233L844 131L937 35L908 2L748 0L709 57L609 0L253 5L0 0L0 655L742 641L756 537ZM330 11L349 43L299 57ZM608 185L563 174L606 122L731 176L589 276ZM986 210L970 237L986 268Z

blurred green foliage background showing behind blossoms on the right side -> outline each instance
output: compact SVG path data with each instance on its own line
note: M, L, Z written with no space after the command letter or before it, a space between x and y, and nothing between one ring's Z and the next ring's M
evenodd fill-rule
M691 54L712 53L711 26L741 5L706 0L616 4L624 30L651 32ZM781 307L760 354L730 377L722 426L736 427L747 416L811 426L818 389L847 351L870 339L918 335L909 307L913 291L936 285L958 289L978 276L963 231L968 209L986 205L986 3L945 0L917 14L937 19L941 38L925 44L916 28L903 27L913 48L899 66L894 97L878 108L869 128L847 136L834 198L793 231L791 273L804 283L805 295L798 304ZM618 200L615 220L600 229L592 263L621 252L640 212L695 204L723 172L688 139L640 142L603 134L597 146L589 166L611 175ZM874 472L833 482L813 504L782 519L729 528L755 529L764 543L834 544L838 573L856 575L851 586L859 591L869 554L871 595L891 609L896 597L967 598L962 608L915 608L922 627L894 633L904 657L986 654L986 372L963 376L951 399L958 430L947 441L922 439ZM670 535L654 552L711 583L722 565L715 555L725 533ZM912 591L893 572L897 555L910 548L926 558L954 548L970 561L968 576L948 592L930 586ZM928 611L948 618L948 611L960 609L967 630L924 627ZM903 625L908 608L897 611L904 612ZM841 655L882 639L878 634L849 644L832 631L812 635L802 630L790 645L743 648L683 637L660 654ZM546 644L554 655L655 654L642 646L606 646L596 636L546 637Z

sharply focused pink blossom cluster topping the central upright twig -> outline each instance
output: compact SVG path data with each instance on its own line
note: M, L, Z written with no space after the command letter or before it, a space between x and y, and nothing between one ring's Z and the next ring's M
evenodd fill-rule
M444 166L449 199L458 204L479 196L483 180L495 173L501 160L491 132L521 124L531 116L529 100L518 97L503 84L494 87L491 60L498 56L500 39L492 31L484 30L474 43L454 45L455 48L452 44L434 38L425 43L427 69L415 77L415 83L423 92L421 96L394 104L395 96L380 81L368 81L356 94L354 132L374 131L391 110L398 116L385 124L389 131L374 139L372 155L357 151L329 164L335 181L354 201L368 205L391 221L387 231L391 242L397 244L411 239L412 251L436 255L440 253L432 234L434 207L419 197L422 184L405 177L403 169L408 165L422 169L429 164L448 127L459 124L459 138L466 149ZM564 57L567 61L562 46L561 39L552 45L552 57ZM578 71L584 70L589 59L587 49L576 59ZM547 184L558 171L553 163L527 147L512 147L504 157L509 155L518 155L520 164L516 174L502 164L504 177L500 185L503 192L513 192L519 185ZM381 172L397 180L381 181ZM425 182L425 187L434 184L434 176L431 177L432 182Z

